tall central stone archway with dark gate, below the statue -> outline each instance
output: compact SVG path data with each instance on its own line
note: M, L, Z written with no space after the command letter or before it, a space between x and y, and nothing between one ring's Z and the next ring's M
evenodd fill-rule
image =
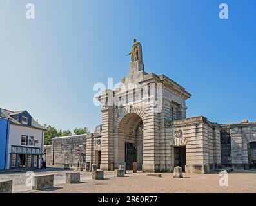
M142 169L143 111L139 108L124 109L115 122L115 168L118 168L121 162L126 162L127 169L132 169L132 162L137 162L137 169Z

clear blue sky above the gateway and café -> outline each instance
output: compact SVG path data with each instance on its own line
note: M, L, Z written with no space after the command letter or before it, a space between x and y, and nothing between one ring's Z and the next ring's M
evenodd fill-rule
M219 19L221 3L229 19ZM136 38L145 71L192 93L187 117L256 122L255 23L255 0L1 0L0 108L93 131L101 111L92 88L128 75Z

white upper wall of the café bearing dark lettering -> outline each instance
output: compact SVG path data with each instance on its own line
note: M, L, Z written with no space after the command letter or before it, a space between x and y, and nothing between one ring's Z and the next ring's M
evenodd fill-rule
M32 127L10 124L7 168L9 168L9 164L10 164L10 152L12 149L12 145L15 145L15 146L21 145L21 135L34 136L34 140L38 140L38 143L35 143L35 146L28 145L28 147L39 147L41 148L41 151L43 151L44 142L43 142L43 131L41 129L34 129ZM39 165L41 165L41 163L39 163Z

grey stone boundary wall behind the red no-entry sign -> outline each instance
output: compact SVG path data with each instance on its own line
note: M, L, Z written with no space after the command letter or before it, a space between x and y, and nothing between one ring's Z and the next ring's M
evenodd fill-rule
M80 155L77 154L77 149L81 150ZM68 163L76 167L79 162L79 166L85 166L86 134L53 138L51 153L52 165Z

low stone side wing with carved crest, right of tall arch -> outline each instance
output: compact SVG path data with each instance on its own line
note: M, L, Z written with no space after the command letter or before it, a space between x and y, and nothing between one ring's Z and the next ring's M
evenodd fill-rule
M180 130L182 136L175 136ZM173 170L173 147L186 146L186 172L208 173L221 164L221 144L219 124L209 122L206 117L192 117L177 120L166 128L170 140L168 151Z

